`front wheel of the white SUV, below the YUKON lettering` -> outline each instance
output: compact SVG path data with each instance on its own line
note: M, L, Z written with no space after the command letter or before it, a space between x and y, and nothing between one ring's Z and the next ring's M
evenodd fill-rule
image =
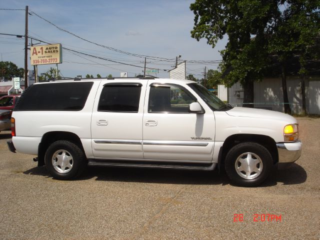
M263 182L272 169L272 156L262 145L242 142L233 146L225 157L225 171L238 186L256 186Z

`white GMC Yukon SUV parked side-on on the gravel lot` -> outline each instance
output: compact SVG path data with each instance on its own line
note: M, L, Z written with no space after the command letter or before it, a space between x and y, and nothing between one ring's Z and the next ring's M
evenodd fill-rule
M28 87L12 113L11 151L57 179L87 164L213 170L261 183L301 153L294 117L230 107L202 85L161 78L74 79Z

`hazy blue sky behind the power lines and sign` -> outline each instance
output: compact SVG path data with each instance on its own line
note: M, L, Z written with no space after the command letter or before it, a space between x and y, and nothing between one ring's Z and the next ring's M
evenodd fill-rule
M187 74L196 78L203 76L206 69L216 69L217 63L189 63L192 60L220 60L219 50L225 47L222 39L217 45L191 37L194 14L189 9L192 0L0 0L0 8L23 10L0 10L0 33L24 35L25 6L28 5L28 35L49 43L61 43L62 47L76 50L108 60L98 59L81 53L62 50L62 63L58 65L61 75L75 77L86 74L112 74L128 76L143 74L144 55L146 67L158 68L158 77L169 77L168 70L178 62L186 60ZM88 41L141 55L132 56L82 40L61 31L55 24ZM30 43L30 40L29 40ZM39 41L32 40L32 43ZM41 44L46 44L41 42ZM24 37L0 34L2 61L11 61L24 67ZM28 52L28 69L30 65ZM156 58L160 57L160 58ZM169 60L163 60L167 58ZM122 64L125 63L125 64ZM131 64L135 66L130 66ZM136 67L140 66L140 67ZM38 65L38 74L46 72L55 64Z

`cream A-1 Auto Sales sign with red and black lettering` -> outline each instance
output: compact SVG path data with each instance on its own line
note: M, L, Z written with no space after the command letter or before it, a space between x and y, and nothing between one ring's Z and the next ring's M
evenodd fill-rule
M62 46L58 44L31 46L31 65L62 63Z

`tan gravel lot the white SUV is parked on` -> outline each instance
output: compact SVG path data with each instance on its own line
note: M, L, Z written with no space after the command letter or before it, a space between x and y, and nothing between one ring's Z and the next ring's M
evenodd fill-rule
M320 118L297 119L301 157L255 188L225 173L131 168L55 180L1 132L0 239L320 239Z

